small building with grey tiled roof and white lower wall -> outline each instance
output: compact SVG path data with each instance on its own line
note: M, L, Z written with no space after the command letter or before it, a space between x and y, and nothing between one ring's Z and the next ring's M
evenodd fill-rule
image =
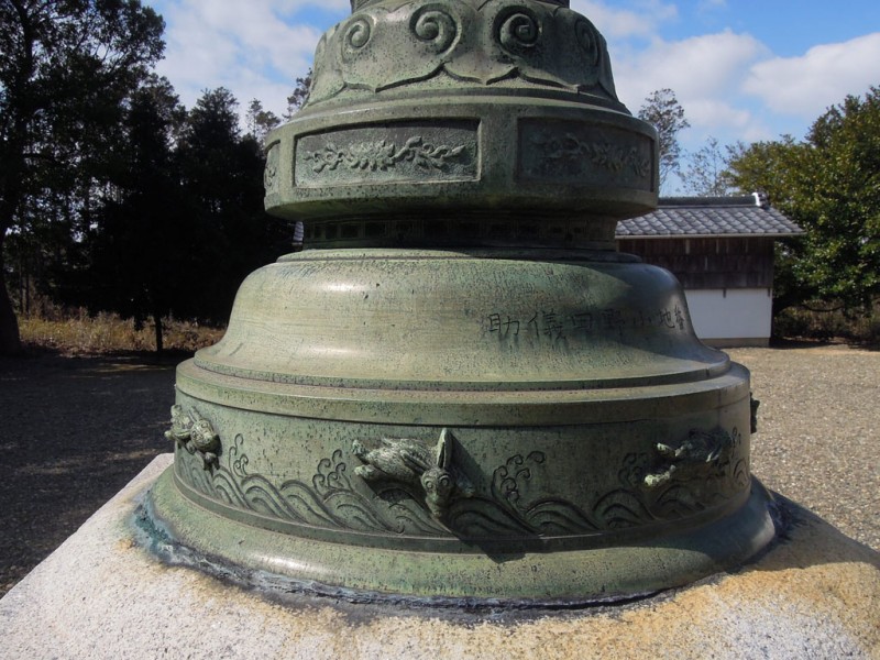
M773 243L803 230L761 195L675 197L617 224L622 252L682 283L697 337L717 346L767 345Z

